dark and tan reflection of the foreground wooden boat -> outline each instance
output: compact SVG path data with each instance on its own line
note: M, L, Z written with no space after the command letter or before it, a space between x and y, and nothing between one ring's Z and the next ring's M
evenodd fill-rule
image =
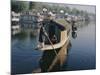
M41 72L61 71L69 48L71 48L71 42L68 40L62 48L56 49L57 56L53 50L44 51L39 61Z

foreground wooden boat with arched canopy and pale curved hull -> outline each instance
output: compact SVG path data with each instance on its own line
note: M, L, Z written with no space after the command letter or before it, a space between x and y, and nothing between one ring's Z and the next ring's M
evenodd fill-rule
M70 27L63 19L51 20L48 23L45 23L44 29L45 31L43 33L40 29L40 50L61 48L69 38ZM42 34L46 34L44 38L42 37Z

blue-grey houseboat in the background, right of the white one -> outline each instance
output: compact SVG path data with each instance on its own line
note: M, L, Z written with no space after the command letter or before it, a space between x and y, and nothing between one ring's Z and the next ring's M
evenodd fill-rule
M20 24L22 28L34 28L37 24L37 15L31 11L21 13Z

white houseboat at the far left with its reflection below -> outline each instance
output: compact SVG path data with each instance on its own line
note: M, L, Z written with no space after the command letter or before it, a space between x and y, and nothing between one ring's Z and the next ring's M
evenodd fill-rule
M12 19L11 19L11 30L12 30L12 35L15 35L20 32L20 25L19 25L19 13L14 13L12 12Z

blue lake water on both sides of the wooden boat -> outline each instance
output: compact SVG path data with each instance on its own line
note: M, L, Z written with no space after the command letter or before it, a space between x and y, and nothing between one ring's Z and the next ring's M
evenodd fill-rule
M66 55L61 71L95 69L96 66L96 38L94 22L80 24L77 32L70 35L71 47ZM73 35L72 35L73 34ZM32 73L40 68L40 60L43 55L50 52L34 50L37 46L37 36L30 36L27 31L23 36L16 35L11 40L11 72L12 74ZM67 50L67 49L66 49ZM44 54L46 53L46 54ZM52 53L52 52L51 52ZM50 62L50 60L49 60ZM46 66L44 66L45 68Z

